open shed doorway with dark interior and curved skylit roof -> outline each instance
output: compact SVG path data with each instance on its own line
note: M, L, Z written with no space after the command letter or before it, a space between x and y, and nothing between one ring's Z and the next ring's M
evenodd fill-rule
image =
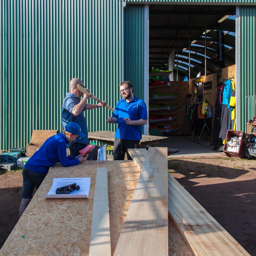
M236 77L235 14L235 5L149 5L149 71L173 70L165 77L150 77L170 83L149 86L149 134L201 135L200 139L213 141L217 84L227 78L235 82ZM162 93L174 95L162 97ZM207 126L202 119L195 129L191 106L202 99L209 102L212 118ZM151 104L165 104L169 109ZM166 115L170 120L152 122Z

